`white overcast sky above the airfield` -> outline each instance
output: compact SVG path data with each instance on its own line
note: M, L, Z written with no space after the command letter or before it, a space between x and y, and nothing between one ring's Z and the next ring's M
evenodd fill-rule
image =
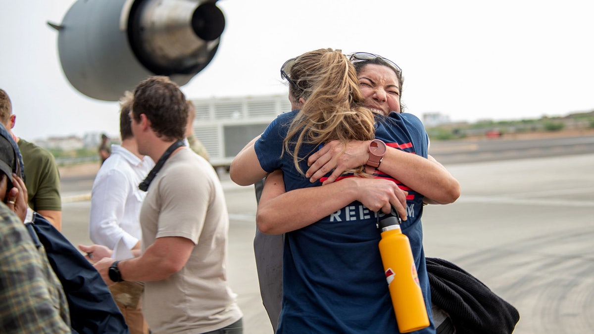
M84 1L84 0L80 0ZM88 0L87 0L88 1ZM110 0L90 0L110 1ZM75 90L55 30L74 0L0 0L0 87L34 140L106 131L118 105ZM189 98L285 93L279 67L317 48L378 53L400 65L403 102L419 117L522 119L594 109L594 2L220 0L217 55Z

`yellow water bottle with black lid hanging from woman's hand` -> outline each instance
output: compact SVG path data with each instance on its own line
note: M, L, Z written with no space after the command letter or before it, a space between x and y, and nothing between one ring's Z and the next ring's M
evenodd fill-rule
M400 230L400 219L386 216L378 221L381 229L380 254L390 289L400 333L429 326L423 292L416 273L410 242Z

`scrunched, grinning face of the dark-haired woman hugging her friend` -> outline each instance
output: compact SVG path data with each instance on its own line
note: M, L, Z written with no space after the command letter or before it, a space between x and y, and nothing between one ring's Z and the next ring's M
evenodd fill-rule
M368 64L359 71L358 78L366 107L384 115L393 111L400 113L400 82L394 70Z

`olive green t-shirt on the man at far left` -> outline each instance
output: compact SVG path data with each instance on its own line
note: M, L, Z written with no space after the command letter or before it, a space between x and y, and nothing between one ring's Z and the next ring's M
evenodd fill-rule
M18 149L23 156L31 209L61 211L60 174L52 153L23 139L18 140Z

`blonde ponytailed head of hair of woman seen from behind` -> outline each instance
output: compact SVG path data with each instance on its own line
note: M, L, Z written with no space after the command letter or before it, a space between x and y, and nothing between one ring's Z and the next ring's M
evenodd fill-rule
M304 53L295 58L290 71L296 78L291 94L305 103L293 118L283 144L301 174L299 151L304 144L317 147L331 140L346 143L375 137L374 114L363 107L365 99L355 67L340 50Z

